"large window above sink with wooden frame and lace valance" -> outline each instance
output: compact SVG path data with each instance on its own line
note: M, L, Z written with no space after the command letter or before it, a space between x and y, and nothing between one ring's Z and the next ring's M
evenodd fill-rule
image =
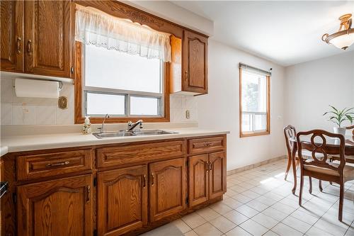
M169 121L170 34L76 5L75 121Z

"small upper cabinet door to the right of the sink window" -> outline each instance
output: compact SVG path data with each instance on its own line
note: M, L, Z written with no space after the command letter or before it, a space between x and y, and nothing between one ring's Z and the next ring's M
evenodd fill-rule
M207 93L207 38L188 30L183 40L183 91Z

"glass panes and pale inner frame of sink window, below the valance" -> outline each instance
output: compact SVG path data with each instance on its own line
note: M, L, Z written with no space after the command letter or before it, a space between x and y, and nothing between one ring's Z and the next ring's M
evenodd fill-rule
M164 116L164 63L84 45L84 116Z

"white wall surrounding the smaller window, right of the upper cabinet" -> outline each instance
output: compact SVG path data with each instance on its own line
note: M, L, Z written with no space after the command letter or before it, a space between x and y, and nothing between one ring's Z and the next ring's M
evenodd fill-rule
M241 50L209 40L209 94L198 96L201 128L230 130L227 169L232 170L285 154L284 68ZM239 137L239 62L268 70L270 78L270 135Z

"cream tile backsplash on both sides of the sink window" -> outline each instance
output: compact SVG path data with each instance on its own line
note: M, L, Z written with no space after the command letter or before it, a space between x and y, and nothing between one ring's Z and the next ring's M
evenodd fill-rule
M67 96L68 108L57 106L57 99L18 98L13 79L0 79L1 125L72 125L74 124L74 85L63 84L60 96ZM190 111L190 118L185 116ZM197 101L193 96L170 95L170 120L173 123L198 121Z

